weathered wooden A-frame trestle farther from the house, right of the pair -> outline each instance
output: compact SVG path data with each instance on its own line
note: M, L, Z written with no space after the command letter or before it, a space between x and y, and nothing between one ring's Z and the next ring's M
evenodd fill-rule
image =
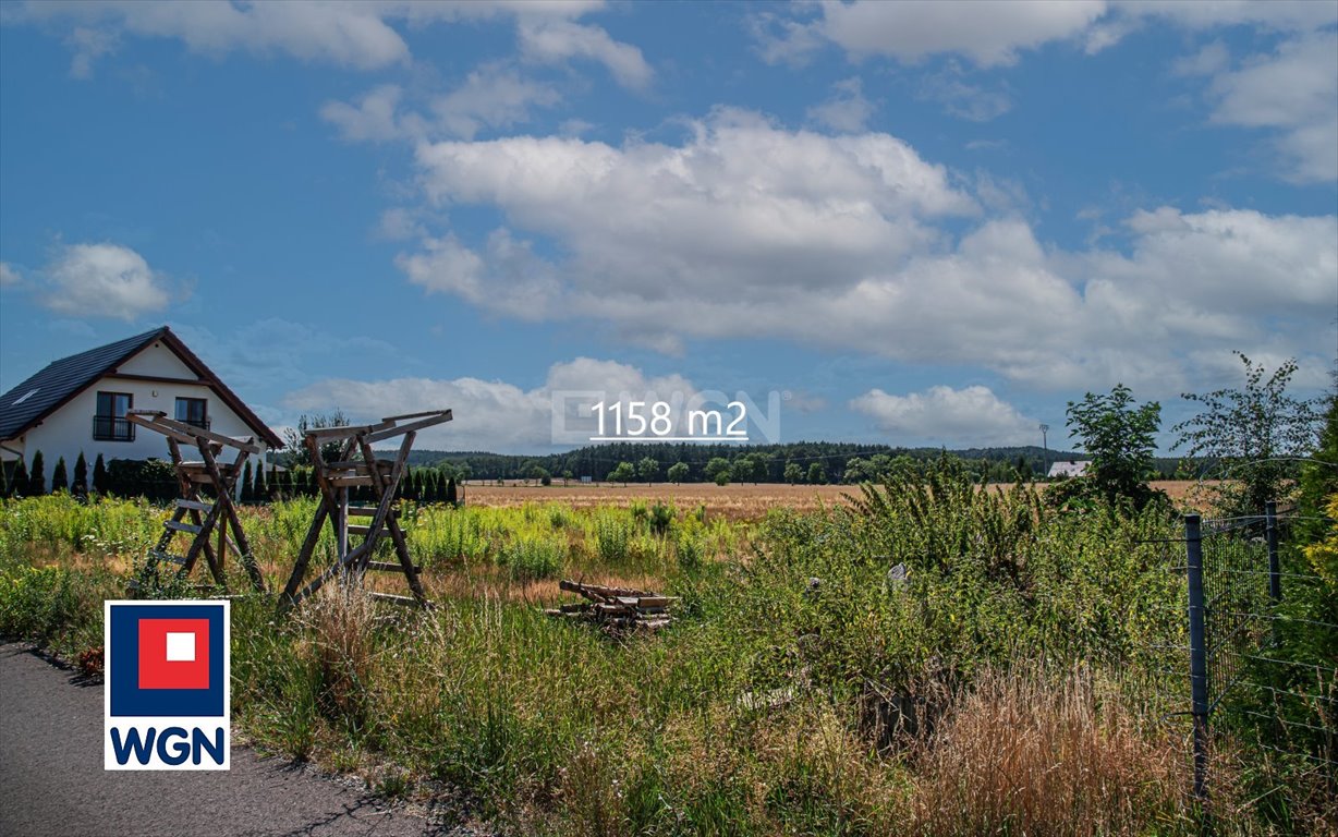
M301 603L334 576L341 576L349 584L360 584L369 569L403 573L412 593L409 597L372 592L369 595L373 599L401 604L429 604L423 592L423 583L419 580L419 568L413 566L413 560L409 557L409 548L404 540L404 532L400 529L399 514L393 509L393 504L400 481L408 470L408 455L417 431L450 421L450 410L429 410L392 415L375 425L320 427L304 434L321 502L312 518L312 526L306 532L306 540L297 554L293 575L288 579L288 585L280 597L280 608ZM396 437L403 437L403 439L395 458L377 459L372 445ZM326 461L321 446L332 442L339 443L339 458ZM349 505L349 489L360 486L371 487L375 506ZM349 517L371 517L371 521L367 525L349 525ZM306 587L301 587L326 521L329 521L334 534L334 564L316 576ZM385 534L389 534L395 544L395 556L399 558L399 564L372 560L377 544ZM349 548L349 536L361 536L363 542Z

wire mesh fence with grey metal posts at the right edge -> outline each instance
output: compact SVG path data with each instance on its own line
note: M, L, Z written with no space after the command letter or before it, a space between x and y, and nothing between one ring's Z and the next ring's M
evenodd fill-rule
M1243 746L1338 767L1338 604L1291 542L1298 520L1272 504L1258 516L1185 517L1181 659L1202 800L1214 738L1227 733Z

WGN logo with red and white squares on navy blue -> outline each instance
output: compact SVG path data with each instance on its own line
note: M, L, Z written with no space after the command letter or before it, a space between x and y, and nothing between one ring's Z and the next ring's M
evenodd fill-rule
M107 770L227 770L227 601L107 601Z

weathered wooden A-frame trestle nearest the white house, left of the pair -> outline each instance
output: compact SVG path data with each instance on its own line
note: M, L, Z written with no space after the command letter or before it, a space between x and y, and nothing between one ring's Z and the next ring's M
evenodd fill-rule
M252 587L265 591L265 579L256 566L256 558L250 553L250 544L246 533L237 517L237 508L233 505L233 486L242 473L242 465L250 454L260 454L261 447L254 438L234 439L218 433L211 433L203 427L187 425L167 418L159 410L131 410L126 419L147 427L167 437L167 449L171 451L173 465L177 469L177 482L181 497L175 501L175 508L170 518L163 521L163 533L158 544L149 550L150 572L159 564L177 564L181 576L189 576L194 569L201 553L209 564L209 572L214 581L227 589L227 579L223 573L223 560L227 550L237 553ZM182 454L182 445L193 446L199 451L198 461L187 461ZM218 462L223 449L237 451L233 462ZM210 500L201 494L201 486L213 486L214 497ZM187 522L186 518L190 518ZM218 550L210 542L214 529L218 529ZM231 537L227 530L231 529ZM174 554L170 550L173 540L178 534L190 534L191 541L186 550Z

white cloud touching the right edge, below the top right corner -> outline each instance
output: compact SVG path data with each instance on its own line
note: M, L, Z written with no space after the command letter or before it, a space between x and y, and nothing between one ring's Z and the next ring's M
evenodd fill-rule
M1299 182L1338 179L1338 32L1283 42L1275 54L1220 71L1210 95L1212 121L1271 127L1284 174Z

